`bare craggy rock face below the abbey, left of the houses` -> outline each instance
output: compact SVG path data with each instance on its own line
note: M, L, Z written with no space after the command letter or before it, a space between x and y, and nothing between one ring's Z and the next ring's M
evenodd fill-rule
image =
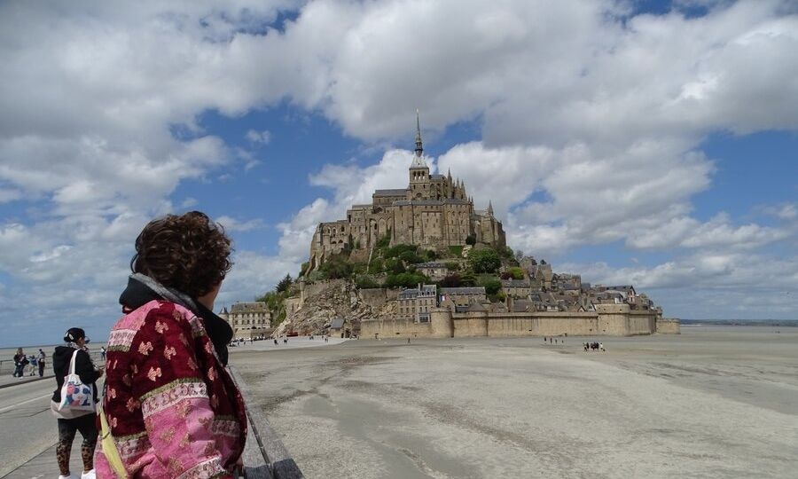
M354 284L342 279L316 283L306 291L300 308L288 314L275 329L275 336L291 331L302 335L328 334L334 318L346 318L357 334L362 319L391 318L397 313L396 302L387 301L385 290L361 293Z

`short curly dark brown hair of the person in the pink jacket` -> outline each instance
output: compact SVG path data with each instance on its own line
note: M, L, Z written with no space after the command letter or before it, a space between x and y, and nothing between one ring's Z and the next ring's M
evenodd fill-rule
M231 251L222 225L204 213L167 215L138 235L130 269L196 298L222 282L232 267Z

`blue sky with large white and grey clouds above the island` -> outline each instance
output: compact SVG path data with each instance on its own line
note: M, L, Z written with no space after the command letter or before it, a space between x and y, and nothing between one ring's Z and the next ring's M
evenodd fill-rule
M217 310L426 161L510 247L676 318L798 318L798 4L0 3L0 346L95 341L133 242L205 211Z

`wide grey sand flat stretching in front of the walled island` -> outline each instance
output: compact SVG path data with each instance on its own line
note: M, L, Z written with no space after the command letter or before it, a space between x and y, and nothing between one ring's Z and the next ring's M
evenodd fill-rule
M776 331L780 333L776 333ZM798 328L236 350L307 477L795 477Z

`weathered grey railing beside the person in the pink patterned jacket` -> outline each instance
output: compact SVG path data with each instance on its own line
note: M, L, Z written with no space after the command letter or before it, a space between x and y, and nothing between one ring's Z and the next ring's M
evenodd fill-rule
M294 462L286 446L271 428L261 408L255 406L249 386L235 367L230 366L233 381L236 381L244 398L246 419L249 420L249 436L244 448L244 477L246 479L303 479L299 466Z

